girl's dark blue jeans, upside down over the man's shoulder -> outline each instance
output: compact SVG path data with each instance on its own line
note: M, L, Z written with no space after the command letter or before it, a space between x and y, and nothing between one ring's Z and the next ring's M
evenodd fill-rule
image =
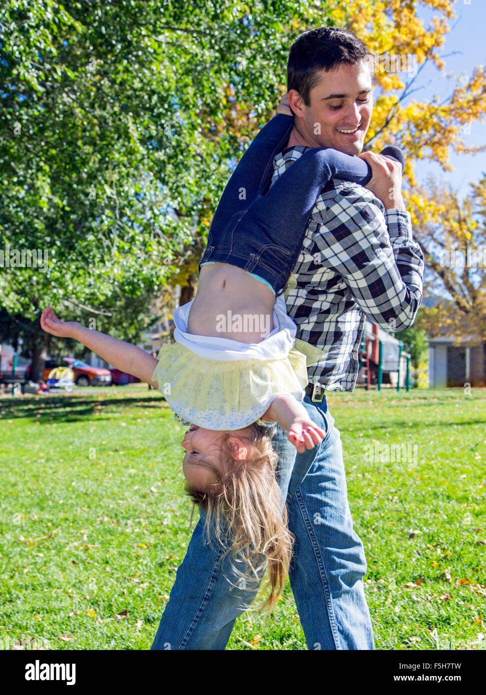
M371 179L371 168L363 159L328 147L307 147L265 193L273 159L284 149L292 129L293 116L273 117L243 154L214 213L199 268L204 263L236 265L263 279L279 295L325 184L332 177L363 186Z

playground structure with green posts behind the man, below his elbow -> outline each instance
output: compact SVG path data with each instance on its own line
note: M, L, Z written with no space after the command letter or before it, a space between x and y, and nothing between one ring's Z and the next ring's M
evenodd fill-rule
M373 382L378 391L381 391L383 374L390 375L391 383L391 375L396 373L396 390L400 391L400 367L402 357L406 357L405 388L410 391L411 356L408 352L403 351L403 342L391 338L374 323L371 324L371 327L372 333L370 334L366 331L365 326L359 347L359 371L364 370L364 388L368 391Z

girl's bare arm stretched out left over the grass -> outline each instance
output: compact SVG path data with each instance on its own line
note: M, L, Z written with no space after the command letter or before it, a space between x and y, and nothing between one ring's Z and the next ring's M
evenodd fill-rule
M158 382L152 382L152 374L159 361L141 347L81 326L77 321L61 321L50 306L42 312L40 325L53 336L75 338L120 371L138 377L154 386L154 389L159 388Z

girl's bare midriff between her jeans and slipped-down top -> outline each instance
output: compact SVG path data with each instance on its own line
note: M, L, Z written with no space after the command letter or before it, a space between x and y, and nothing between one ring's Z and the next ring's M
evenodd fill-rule
M202 265L188 333L261 343L273 331L274 304L270 288L236 265Z

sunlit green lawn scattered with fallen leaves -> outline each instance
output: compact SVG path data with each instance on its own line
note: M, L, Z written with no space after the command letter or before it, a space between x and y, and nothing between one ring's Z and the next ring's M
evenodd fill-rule
M376 648L483 646L486 391L359 390L328 402ZM0 417L3 645L148 649L190 539L183 431L168 404L134 384L3 398ZM368 460L373 440L416 445L416 461L389 462L383 449ZM307 649L289 583L275 618L266 628L239 617L227 648Z

